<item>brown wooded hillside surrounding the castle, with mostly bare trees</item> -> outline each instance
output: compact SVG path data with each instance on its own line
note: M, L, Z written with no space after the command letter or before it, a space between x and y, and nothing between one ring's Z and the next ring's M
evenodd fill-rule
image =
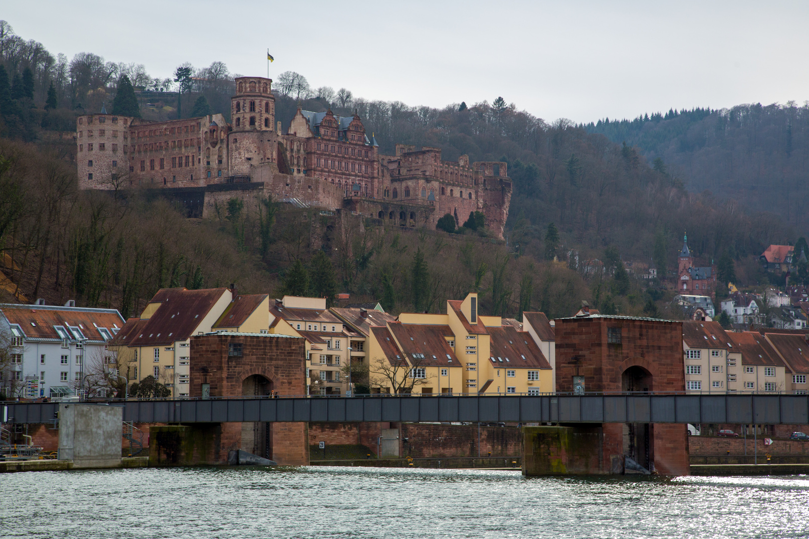
M180 106L159 112L164 116L227 113L233 77L216 61L202 69L180 64L177 80L150 79L143 65L91 53L68 61L0 22L0 269L9 278L0 294L75 298L132 315L162 286L349 292L393 312L440 310L447 298L477 290L481 309L492 314L566 316L588 299L607 313L677 317L666 301L672 293L656 280L633 278L622 259L654 260L667 275L685 231L705 263L722 255L749 259L771 242L796 239L777 213L689 192L679 169L650 166L640 143L610 141L591 133L595 127L549 124L498 96L471 105L459 96L443 109L361 99L345 88L312 89L293 72L273 83L285 126L299 103L356 111L382 153L403 142L439 146L444 159L508 162L514 194L505 244L467 228L446 234L330 221L269 199L257 211L231 200L218 218L194 221L147 192L78 192L76 116L102 103L114 112L119 90L131 94L129 85L149 80L161 95L181 96ZM133 106L156 114L142 102ZM740 275L752 284L766 278L755 266Z

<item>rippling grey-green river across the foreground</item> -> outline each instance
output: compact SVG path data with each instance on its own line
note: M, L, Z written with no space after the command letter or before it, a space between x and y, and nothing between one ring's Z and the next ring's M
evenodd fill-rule
M304 467L0 475L0 537L807 537L809 478Z

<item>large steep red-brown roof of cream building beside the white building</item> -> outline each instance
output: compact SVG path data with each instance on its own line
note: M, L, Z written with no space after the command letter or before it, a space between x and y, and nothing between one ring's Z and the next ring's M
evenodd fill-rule
M149 302L160 302L161 305L129 346L151 346L188 339L225 292L227 288L160 289Z

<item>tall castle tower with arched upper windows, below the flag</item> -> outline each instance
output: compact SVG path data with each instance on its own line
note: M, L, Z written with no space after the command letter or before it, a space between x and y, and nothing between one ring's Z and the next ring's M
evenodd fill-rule
M249 175L253 166L276 162L275 98L272 79L239 77L231 97L228 157L231 175Z

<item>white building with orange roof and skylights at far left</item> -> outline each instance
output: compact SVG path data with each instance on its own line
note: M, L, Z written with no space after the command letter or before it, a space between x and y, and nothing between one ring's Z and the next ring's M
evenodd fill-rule
M117 310L75 307L72 300L65 306L0 304L0 333L11 345L11 363L0 369L0 393L78 394L84 379L114 364L107 343L123 325Z

